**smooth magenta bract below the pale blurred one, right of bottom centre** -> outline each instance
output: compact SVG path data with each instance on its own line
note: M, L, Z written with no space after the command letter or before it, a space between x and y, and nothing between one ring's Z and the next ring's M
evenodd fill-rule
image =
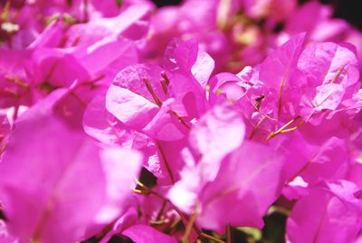
M262 217L281 192L282 165L281 156L270 148L244 142L202 190L197 222L219 232L228 224L262 228Z

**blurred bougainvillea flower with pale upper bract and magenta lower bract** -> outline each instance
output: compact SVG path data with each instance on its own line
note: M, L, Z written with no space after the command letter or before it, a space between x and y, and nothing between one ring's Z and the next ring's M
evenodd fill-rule
M202 228L220 233L226 225L262 228L262 216L281 190L281 158L263 145L243 142L243 120L231 107L205 113L189 142L194 156L184 153L186 167L168 194L171 201L195 213Z

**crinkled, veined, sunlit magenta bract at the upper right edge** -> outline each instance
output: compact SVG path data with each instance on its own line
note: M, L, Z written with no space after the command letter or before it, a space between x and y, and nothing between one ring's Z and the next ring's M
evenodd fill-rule
M311 44L300 55L300 73L305 77L305 90L300 102L300 115L313 124L321 122L319 114L348 110L344 102L357 92L359 73L357 57L347 46L334 43ZM357 102L355 102L357 103Z

